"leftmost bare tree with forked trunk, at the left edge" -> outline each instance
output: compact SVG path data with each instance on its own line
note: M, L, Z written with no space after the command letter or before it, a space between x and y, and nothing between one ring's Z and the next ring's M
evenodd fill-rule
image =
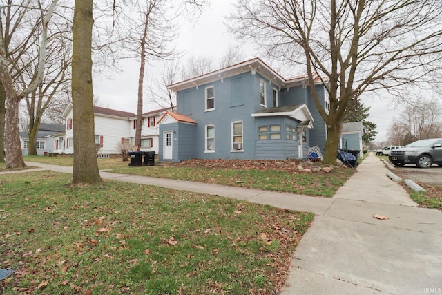
M22 1L18 6L8 0L6 6L2 6L6 12L7 19L3 30L3 23L1 23L1 36L0 36L0 80L3 84L6 93L6 168L17 168L26 166L23 160L23 155L21 155L21 144L19 137L19 102L23 97L26 97L32 91L35 91L37 86L43 79L44 66L46 60L46 47L48 44L48 23L50 17L52 17L52 12L57 6L57 0L53 0L47 9L44 9L40 1L37 1L37 7L32 7L31 1ZM35 1L32 1L35 4ZM17 10L16 10L17 9ZM23 32L19 35L19 38L12 40L12 36L17 33L17 28L19 24L25 18L26 12L30 9L38 9L39 16L37 21L28 21L26 23L36 23L31 25L28 29L29 34L23 35ZM16 22L14 25L10 23L12 19ZM12 26L12 28L11 28ZM41 29L41 37L39 39L39 54L38 54L38 68L37 76L29 84L21 89L17 89L17 83L15 81L15 75L17 71L23 70L17 68L17 64L24 56L27 50L30 50L32 44L35 42L35 32ZM24 37L23 37L24 36ZM20 39L21 37L21 39ZM15 49L10 48L11 44L15 45ZM29 59L28 59L29 60ZM32 59L31 59L32 60ZM28 63L25 61L25 64Z

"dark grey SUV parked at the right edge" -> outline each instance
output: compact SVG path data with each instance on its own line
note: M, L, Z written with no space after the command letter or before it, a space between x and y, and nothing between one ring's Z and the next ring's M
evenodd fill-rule
M416 164L419 168L428 168L433 163L442 166L442 138L418 140L403 148L394 149L388 160L399 167Z

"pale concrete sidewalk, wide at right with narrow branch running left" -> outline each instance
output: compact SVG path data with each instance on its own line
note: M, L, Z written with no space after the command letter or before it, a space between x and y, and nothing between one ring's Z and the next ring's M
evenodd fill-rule
M72 167L27 164L72 173ZM296 248L284 295L442 293L441 211L416 207L401 185L387 178L387 168L374 155L357 169L333 198L100 174L109 180L314 212L315 220ZM374 214L389 219L378 220Z

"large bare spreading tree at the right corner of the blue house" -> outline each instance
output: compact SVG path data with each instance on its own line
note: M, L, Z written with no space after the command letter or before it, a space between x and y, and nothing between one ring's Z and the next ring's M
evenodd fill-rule
M441 3L427 0L239 0L230 19L238 36L307 72L327 126L324 160L334 164L352 99L376 89L400 91L439 70L441 16ZM317 79L327 88L329 113L320 104Z

